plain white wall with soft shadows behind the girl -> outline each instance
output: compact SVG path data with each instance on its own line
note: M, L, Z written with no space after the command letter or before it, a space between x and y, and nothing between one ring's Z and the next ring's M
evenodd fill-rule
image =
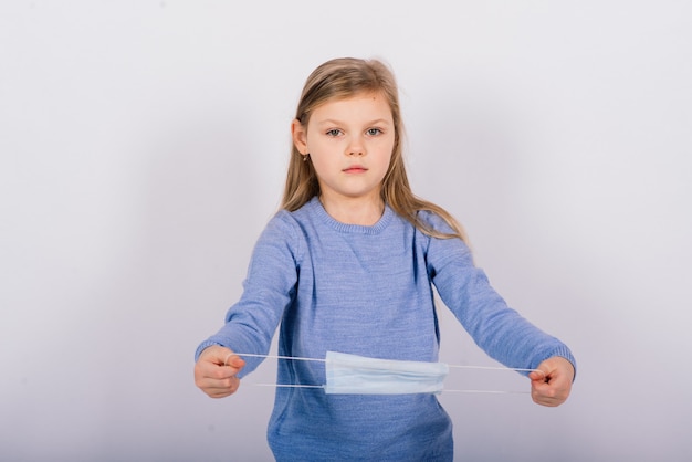
M557 409L442 395L457 458L691 460L690 18L673 0L3 1L0 459L271 460L273 390L207 398L192 354L279 206L305 77L350 55L398 76L415 191L579 363ZM442 324L442 360L494 365ZM527 388L503 374L447 385Z

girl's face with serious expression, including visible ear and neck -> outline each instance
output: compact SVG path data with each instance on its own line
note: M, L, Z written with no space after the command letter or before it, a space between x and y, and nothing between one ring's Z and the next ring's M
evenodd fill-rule
M323 201L373 200L379 203L395 144L387 99L363 93L315 108L307 127L294 120L293 140L310 153Z

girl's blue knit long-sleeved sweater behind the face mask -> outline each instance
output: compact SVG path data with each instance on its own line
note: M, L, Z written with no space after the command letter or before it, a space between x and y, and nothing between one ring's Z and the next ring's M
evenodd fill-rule
M449 231L432 214L421 218ZM434 239L389 207L371 227L337 222L317 198L280 211L262 232L226 325L197 349L222 345L266 354L279 325L279 354L324 358L327 350L437 361L440 333L432 284L478 345L508 367L552 356L573 361L491 287L459 239ZM239 377L261 359L244 358ZM279 384L324 385L324 364L279 360ZM452 424L434 395L325 395L277 388L268 429L279 461L452 460Z

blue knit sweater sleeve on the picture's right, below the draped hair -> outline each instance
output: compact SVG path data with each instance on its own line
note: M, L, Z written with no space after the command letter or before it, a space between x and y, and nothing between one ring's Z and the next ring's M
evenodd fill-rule
M436 229L447 230L441 220L431 220ZM442 302L489 356L507 367L526 369L562 356L576 370L569 348L507 306L485 273L474 265L463 241L430 238L427 265Z

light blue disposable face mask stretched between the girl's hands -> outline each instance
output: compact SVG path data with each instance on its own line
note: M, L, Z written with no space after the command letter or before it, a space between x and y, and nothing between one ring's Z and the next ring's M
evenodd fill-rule
M449 366L327 351L326 393L406 395L442 391Z

